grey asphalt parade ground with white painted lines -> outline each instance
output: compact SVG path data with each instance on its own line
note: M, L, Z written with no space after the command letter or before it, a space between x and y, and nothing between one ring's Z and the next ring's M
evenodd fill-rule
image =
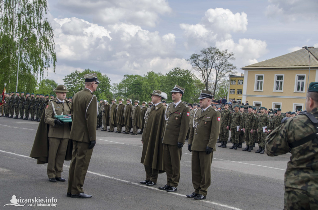
M290 153L269 157L256 154L255 148L252 152L229 149L231 142L227 148L217 147L206 199L194 200L185 196L194 192L187 142L182 148L178 190L168 193L158 189L166 184L166 174L159 174L156 186L139 184L145 180L144 166L140 163L140 134L118 134L101 131L101 128L97 130L96 145L83 187L84 192L93 197L66 197L70 161L64 162L62 172L66 182L52 183L46 174L47 164L37 165L36 160L29 157L37 128L38 122L0 117L0 209L283 208L284 173ZM13 195L22 201L18 202L20 207L6 205L12 203ZM37 199L44 199L46 203ZM48 203L54 205L44 205Z

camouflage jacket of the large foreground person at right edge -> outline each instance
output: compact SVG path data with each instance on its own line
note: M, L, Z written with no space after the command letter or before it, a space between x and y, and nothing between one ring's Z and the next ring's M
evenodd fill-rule
M311 112L318 119L318 108ZM290 148L294 143L316 133L314 124L305 115L286 120L266 137L266 154L277 156L291 152L285 172L285 190L301 189L318 195L318 138Z

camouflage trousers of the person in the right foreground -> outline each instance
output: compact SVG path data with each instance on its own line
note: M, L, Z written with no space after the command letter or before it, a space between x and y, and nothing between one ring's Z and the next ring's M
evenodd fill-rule
M284 194L285 210L318 209L318 195L309 195L300 189L288 190Z

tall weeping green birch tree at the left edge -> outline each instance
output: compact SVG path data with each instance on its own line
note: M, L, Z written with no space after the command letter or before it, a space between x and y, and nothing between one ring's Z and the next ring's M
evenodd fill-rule
M41 80L51 64L55 71L53 29L44 18L46 11L46 0L0 1L0 73L5 75L0 82L6 82L10 90L15 90L17 82L18 56L20 91L25 87L35 89L37 82L31 76ZM28 37L26 42L24 37Z

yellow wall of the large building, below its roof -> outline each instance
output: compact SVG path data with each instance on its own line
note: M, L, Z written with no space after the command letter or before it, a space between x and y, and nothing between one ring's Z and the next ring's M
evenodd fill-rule
M295 79L297 75L305 75L304 91L295 91ZM307 93L308 70L245 70L244 74L243 102L248 101L250 105L261 102L266 108L274 108L273 103L281 103L282 112L294 111L295 104L303 104ZM255 75L264 75L263 91L255 90ZM283 88L281 92L274 91L275 75L284 75ZM309 83L318 82L318 69L310 69Z

